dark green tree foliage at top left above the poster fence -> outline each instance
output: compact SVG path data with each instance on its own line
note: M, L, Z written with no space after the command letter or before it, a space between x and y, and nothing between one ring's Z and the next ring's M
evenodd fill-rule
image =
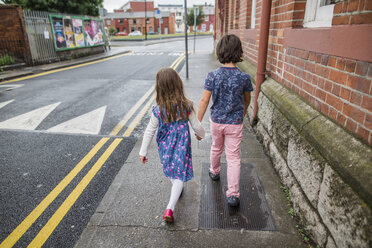
M18 4L24 9L98 16L103 0L2 0L5 4Z

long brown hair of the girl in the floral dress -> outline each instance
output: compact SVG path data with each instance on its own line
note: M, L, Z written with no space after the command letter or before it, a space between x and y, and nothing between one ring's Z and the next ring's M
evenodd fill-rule
M164 122L187 121L194 108L186 98L183 83L178 73L172 68L162 68L156 74L156 103ZM177 113L178 112L178 113Z

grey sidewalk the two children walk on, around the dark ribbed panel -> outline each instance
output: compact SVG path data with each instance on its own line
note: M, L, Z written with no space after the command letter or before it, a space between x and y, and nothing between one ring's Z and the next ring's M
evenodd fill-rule
M190 55L189 63L189 79L184 78L185 67L180 74L188 97L197 104L205 76L219 64L211 51ZM207 133L208 118L206 115L203 120ZM136 143L75 247L305 247L295 222L288 214L279 179L247 123L241 148L242 166L251 164L257 171L275 231L200 228L199 218L203 214L200 210L201 196L205 193L201 186L205 179L202 178L202 168L205 169L202 164L209 163L210 135L201 142L193 138L195 177L186 184L176 206L175 222L164 224L162 215L168 203L171 183L163 175L155 139L149 150L149 162L145 165L140 163L138 152L141 142L139 139Z

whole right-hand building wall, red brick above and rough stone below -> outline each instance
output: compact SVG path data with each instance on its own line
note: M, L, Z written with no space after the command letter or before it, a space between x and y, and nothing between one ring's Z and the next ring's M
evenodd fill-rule
M372 1L216 0L225 34L242 40L250 121L308 236L370 247Z

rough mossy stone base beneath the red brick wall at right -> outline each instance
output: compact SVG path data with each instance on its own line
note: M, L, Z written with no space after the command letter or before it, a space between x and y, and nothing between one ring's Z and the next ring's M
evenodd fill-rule
M255 78L253 65L239 67ZM256 135L310 237L327 248L372 247L371 147L271 78L261 86L257 117Z

